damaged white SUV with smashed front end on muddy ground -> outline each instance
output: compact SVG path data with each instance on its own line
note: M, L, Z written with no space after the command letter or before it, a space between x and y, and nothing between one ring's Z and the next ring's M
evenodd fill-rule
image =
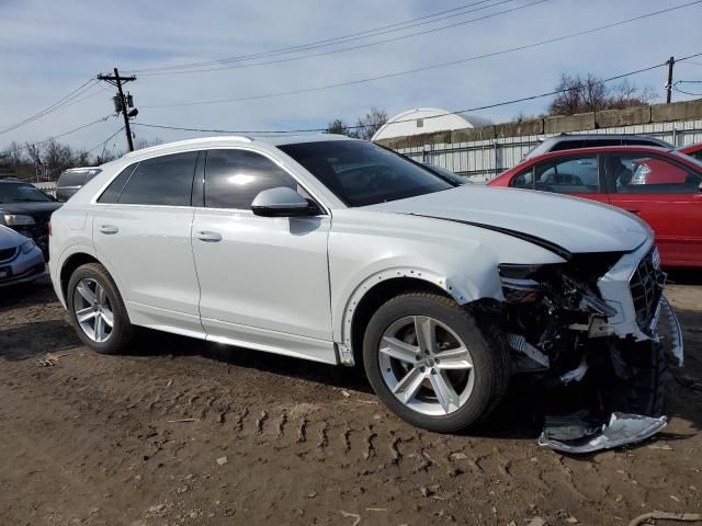
M139 325L359 364L392 411L439 432L530 374L585 395L581 433L562 408L547 419L542 441L565 448L604 441L616 412L665 425L645 418L661 411L658 319L681 361L679 328L653 232L613 207L454 186L338 136L217 137L104 164L52 227L54 287L98 352Z

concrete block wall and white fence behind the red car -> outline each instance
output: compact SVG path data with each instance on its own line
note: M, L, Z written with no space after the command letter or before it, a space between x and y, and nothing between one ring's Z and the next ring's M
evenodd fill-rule
M677 147L701 142L702 99L435 132L377 142L416 160L485 181L519 163L540 139L562 133L643 134Z

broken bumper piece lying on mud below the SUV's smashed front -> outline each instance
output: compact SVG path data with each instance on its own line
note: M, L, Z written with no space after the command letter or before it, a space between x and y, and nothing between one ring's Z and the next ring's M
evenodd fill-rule
M666 416L656 419L642 414L612 413L610 422L603 425L601 431L575 439L558 439L553 436L554 433L551 430L545 427L539 437L539 445L564 453L592 453L645 441L667 424Z

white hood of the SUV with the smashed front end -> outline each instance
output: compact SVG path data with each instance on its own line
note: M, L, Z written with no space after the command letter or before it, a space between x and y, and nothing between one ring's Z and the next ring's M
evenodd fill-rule
M467 185L364 208L524 235L571 253L629 252L653 236L644 221L619 208L529 190Z

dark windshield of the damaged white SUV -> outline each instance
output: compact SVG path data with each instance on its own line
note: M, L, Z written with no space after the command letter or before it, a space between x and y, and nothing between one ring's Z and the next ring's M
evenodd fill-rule
M325 140L279 148L351 207L455 187L398 153L371 142Z

